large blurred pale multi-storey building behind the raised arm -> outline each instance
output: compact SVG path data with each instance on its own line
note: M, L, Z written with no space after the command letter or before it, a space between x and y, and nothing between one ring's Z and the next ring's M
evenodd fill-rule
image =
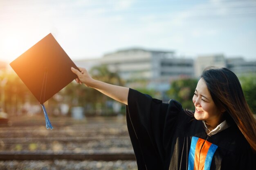
M138 87L141 83L136 82L144 81L146 87L158 91L168 90L170 81L180 76L194 76L193 59L177 57L173 51L130 48L75 63L88 70L94 65L108 65L110 71L129 82L129 87Z

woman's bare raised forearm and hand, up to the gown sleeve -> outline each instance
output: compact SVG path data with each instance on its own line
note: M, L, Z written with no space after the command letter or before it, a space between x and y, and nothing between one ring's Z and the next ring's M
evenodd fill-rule
M84 83L85 86L94 88L106 96L117 100L118 102L128 105L128 87L122 87L118 85L111 85L102 81L94 80L87 72L85 68L71 68L72 72L77 75L76 83Z

